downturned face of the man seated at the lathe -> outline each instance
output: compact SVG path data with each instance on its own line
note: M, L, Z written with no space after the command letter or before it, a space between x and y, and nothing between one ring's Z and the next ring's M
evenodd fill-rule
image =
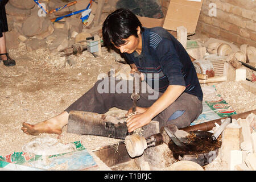
M139 37L137 38L134 35L131 35L129 38L123 40L125 40L125 44L119 47L114 45L115 48L119 49L122 53L133 53L139 45Z

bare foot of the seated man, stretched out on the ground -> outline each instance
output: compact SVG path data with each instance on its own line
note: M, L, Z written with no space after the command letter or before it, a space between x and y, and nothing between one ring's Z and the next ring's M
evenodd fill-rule
M60 115L46 121L31 125L22 123L22 130L28 135L39 135L40 133L61 134L62 128L68 123L68 113L64 111Z

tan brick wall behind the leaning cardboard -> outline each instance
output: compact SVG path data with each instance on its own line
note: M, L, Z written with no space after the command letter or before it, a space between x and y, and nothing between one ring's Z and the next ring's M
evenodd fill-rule
M170 0L159 1L166 14ZM256 1L203 0L196 34L256 47Z

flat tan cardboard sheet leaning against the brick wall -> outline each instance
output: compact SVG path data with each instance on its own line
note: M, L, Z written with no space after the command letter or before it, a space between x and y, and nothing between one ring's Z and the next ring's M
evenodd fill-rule
M176 31L184 26L187 32L195 32L203 0L171 0L163 28Z

